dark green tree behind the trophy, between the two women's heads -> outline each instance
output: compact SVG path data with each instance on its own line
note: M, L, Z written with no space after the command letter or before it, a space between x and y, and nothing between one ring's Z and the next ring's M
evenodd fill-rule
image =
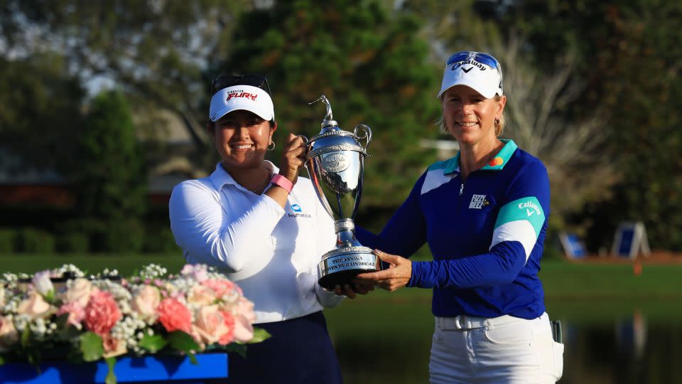
M320 95L329 98L342 129L368 124L373 137L362 205L396 206L435 160L419 141L438 134L442 69L428 62L420 26L409 14L389 14L379 1L278 1L244 14L232 55L215 73L268 76L280 142L286 132L320 132L324 107L308 106Z

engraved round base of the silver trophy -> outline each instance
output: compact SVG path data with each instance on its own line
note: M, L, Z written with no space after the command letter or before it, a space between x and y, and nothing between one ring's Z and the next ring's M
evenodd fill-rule
M332 290L337 285L350 284L357 274L381 270L379 256L368 247L339 247L325 253L318 263L318 284Z

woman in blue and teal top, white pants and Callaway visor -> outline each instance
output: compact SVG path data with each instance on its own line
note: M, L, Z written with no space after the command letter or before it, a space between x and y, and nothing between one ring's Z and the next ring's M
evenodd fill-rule
M438 92L452 159L428 167L377 235L358 240L390 267L358 275L394 291L433 289L431 383L553 383L563 344L553 341L537 273L549 215L542 162L499 139L502 69L487 53L459 52ZM409 257L428 242L433 261Z

